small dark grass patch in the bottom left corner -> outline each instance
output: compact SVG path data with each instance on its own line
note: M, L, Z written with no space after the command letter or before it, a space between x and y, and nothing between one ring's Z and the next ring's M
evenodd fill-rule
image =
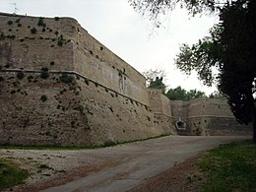
M28 170L19 168L13 161L0 159L0 191L24 183L29 176Z

